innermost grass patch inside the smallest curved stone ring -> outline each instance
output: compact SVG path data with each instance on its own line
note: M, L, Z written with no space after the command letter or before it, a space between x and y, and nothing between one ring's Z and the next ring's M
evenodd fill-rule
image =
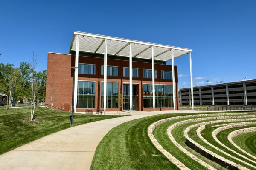
M241 149L256 156L256 132L240 134L233 138L233 142L241 147Z

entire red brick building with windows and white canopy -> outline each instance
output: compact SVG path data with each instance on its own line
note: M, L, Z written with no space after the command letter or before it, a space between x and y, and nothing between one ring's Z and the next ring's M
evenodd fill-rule
M177 110L177 66L172 65L191 51L75 31L69 54L48 53L46 105L53 101L54 109L71 111L73 94L77 112L117 111L122 93L124 110ZM166 65L169 60L172 65Z

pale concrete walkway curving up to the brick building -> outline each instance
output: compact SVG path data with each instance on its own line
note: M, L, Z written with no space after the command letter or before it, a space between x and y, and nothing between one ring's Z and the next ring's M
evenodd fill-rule
M0 170L89 170L96 147L109 130L130 120L164 113L192 111L133 111L132 116L71 127L0 155ZM109 114L117 112L106 113Z

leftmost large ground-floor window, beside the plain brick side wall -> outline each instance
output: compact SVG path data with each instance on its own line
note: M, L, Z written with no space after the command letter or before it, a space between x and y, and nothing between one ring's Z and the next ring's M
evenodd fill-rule
M78 81L76 108L95 108L95 82Z

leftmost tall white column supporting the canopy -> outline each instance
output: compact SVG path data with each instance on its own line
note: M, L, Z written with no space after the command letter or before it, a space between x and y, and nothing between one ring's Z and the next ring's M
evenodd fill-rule
M78 35L76 35L76 59L75 59L75 67L78 67L78 54L79 54L79 40ZM77 107L77 81L78 81L78 70L75 71L75 82L74 82L74 112L76 112Z

